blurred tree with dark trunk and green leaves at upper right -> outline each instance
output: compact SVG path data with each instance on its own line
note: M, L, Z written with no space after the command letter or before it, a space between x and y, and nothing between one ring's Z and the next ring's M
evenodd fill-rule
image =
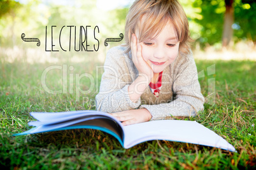
M196 0L194 8L201 18L194 18L202 25L197 42L221 48L241 39L256 41L256 2L253 0ZM233 34L234 33L234 34Z

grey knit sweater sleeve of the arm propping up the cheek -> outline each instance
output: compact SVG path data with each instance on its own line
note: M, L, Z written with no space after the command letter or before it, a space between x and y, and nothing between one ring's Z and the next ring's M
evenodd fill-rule
M104 63L99 93L96 95L96 109L114 113L138 108L139 99L132 102L128 94L128 86L132 83L127 60L120 47L111 48Z

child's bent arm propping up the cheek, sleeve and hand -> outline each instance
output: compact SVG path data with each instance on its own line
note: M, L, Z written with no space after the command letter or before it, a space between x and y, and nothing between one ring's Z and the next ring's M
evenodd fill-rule
M140 96L150 83L153 70L143 59L141 45L138 45L135 35L132 35L131 51L132 61L125 60L123 51L117 48L108 52L100 91L96 96L97 110L113 113L139 107ZM138 70L138 77L132 75L134 65ZM132 81L131 77L136 79Z

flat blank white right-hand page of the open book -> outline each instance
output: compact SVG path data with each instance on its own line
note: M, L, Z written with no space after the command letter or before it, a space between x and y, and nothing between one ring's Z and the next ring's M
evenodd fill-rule
M150 140L180 141L235 151L224 138L196 121L162 120L124 126L124 147Z

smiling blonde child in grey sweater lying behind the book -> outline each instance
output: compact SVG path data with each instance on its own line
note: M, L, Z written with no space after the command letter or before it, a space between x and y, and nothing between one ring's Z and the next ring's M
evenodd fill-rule
M125 46L106 56L97 110L124 125L203 110L188 20L178 0L135 1L126 19Z

